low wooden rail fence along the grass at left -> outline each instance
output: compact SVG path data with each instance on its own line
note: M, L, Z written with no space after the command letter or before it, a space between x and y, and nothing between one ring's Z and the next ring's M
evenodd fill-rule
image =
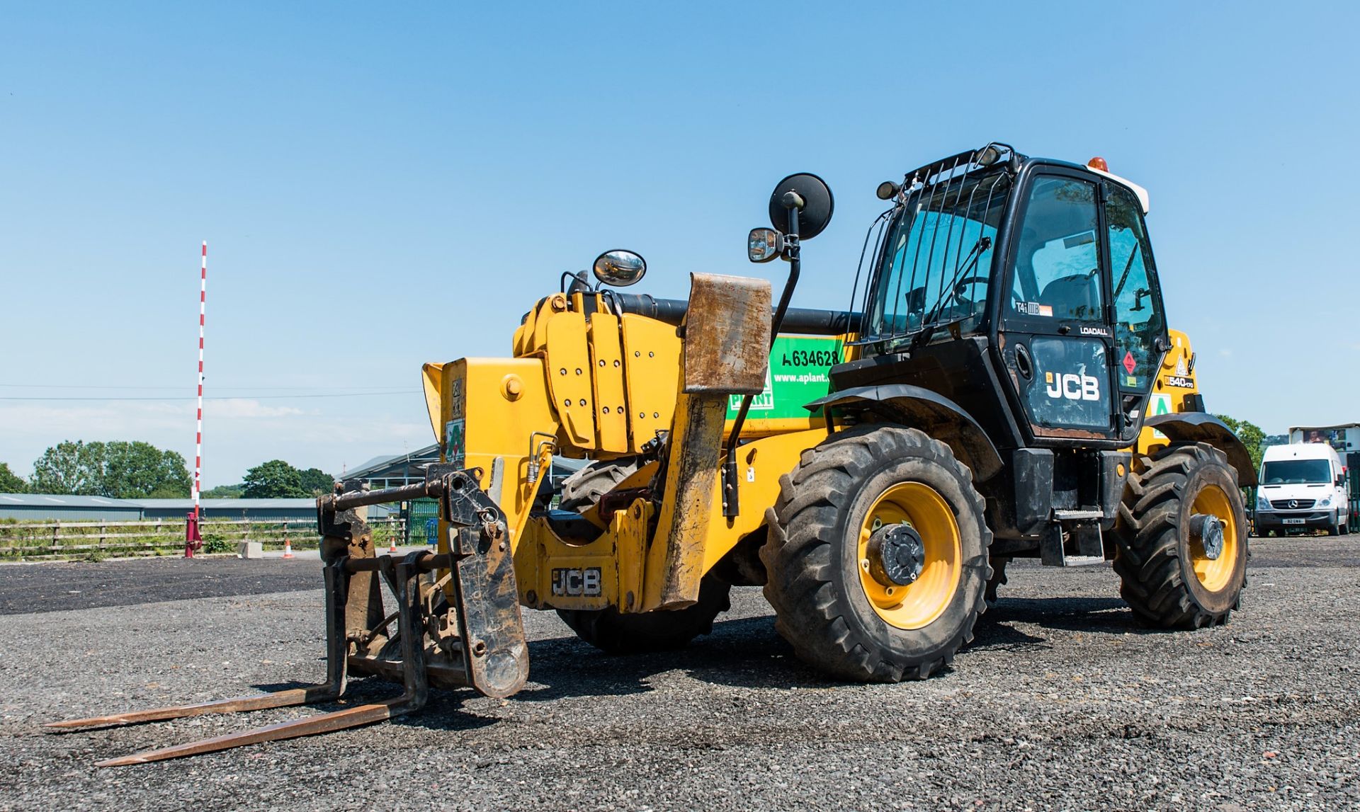
M393 533L398 543L404 537L403 518L388 517L369 524L375 545L386 545ZM184 520L0 522L0 558L170 555L184 549ZM207 520L199 529L204 552L235 552L241 541L260 541L271 548L283 547L287 539L296 549L316 548L320 543L316 520Z

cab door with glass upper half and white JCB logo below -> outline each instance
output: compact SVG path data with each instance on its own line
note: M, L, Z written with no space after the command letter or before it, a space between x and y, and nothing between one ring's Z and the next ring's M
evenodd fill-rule
M1035 438L1118 439L1102 186L1040 167L1021 192L998 347ZM1118 424L1117 424L1118 423ZM1040 442L1040 445L1043 445Z

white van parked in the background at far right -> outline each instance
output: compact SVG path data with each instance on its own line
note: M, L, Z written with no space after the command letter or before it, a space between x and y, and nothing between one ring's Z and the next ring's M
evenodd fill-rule
M1346 532L1346 475L1336 449L1322 442L1266 447L1257 488L1257 533L1326 529Z

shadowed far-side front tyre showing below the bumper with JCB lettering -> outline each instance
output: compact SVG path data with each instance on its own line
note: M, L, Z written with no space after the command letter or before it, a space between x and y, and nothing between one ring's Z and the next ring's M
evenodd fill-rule
M713 631L713 620L732 608L730 586L713 575L699 583L699 601L675 611L623 615L619 609L558 609L577 637L609 654L672 652Z

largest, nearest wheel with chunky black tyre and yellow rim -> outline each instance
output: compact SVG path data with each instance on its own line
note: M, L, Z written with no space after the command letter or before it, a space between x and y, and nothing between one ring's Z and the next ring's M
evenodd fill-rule
M798 657L898 681L930 676L972 639L991 532L949 446L862 426L804 452L779 484L760 558L775 628Z

